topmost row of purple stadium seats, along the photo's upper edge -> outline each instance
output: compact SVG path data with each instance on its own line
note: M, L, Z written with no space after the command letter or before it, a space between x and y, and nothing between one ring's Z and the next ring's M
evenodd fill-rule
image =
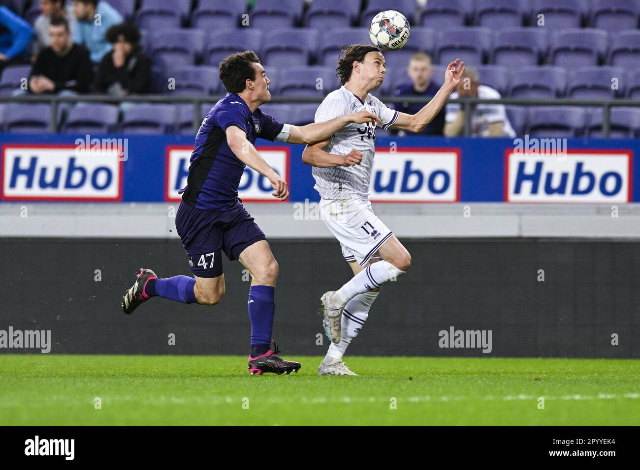
M138 26L154 30L190 25L211 31L221 25L241 26L242 15L248 11L244 1L228 0L141 0L137 9L136 0L109 3ZM540 22L539 15L544 15L544 25L556 31L582 25L620 31L636 29L640 16L638 0L429 0L422 10L416 0L369 0L364 9L360 8L362 3L314 0L305 12L304 0L258 0L249 10L248 20L250 26L266 31L273 31L275 25L324 31L358 24L369 26L376 13L393 8L415 26L535 26ZM32 3L26 12L19 13L33 21L38 15L37 4Z

